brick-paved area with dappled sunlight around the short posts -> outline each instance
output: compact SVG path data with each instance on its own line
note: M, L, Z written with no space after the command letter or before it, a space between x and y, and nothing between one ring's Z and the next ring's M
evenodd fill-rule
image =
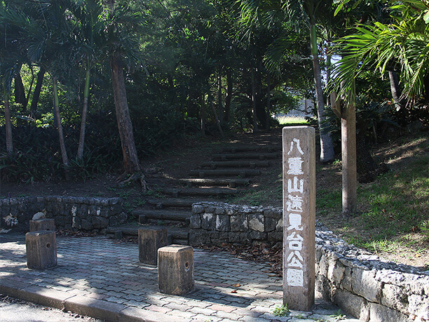
M106 321L337 321L338 308L317 299L311 312L273 315L281 279L266 266L224 252L194 250L195 290L159 293L157 269L138 246L104 236L57 237L58 266L27 269L25 237L0 235L0 293ZM233 285L240 284L240 286ZM235 293L236 290L236 293ZM3 314L4 315L4 314ZM7 321L2 316L0 321ZM342 321L358 321L346 317Z

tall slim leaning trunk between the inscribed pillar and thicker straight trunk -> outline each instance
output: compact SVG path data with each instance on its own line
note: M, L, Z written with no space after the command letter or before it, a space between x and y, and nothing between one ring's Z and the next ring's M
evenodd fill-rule
M320 161L328 162L335 158L332 138L325 124L325 102L323 100L322 73L320 72L318 41L316 27L312 23L310 27L311 54L313 55L313 72L315 82L316 106L318 107L319 133L320 133Z

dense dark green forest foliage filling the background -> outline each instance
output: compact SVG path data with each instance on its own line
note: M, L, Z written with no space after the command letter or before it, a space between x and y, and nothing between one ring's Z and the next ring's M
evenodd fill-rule
M84 179L121 168L115 64L124 72L132 140L143 163L181 135L267 129L299 98L318 96L323 110L312 66L317 60L328 72L335 54L355 64L335 70L355 81L358 116L366 118L360 123L372 129L386 119L381 114L394 126L404 114L427 122L427 63L415 57L427 43L424 1L414 1L416 10L407 9L409 1L394 9L381 1L336 2L0 1L1 179L54 180L64 170ZM389 23L397 33L409 30L405 23L418 29L407 39L407 48L415 45L407 60L405 52L393 51L385 62L375 45L353 47L368 31L383 39ZM381 77L371 67L382 67ZM408 102L401 109L389 93L389 68Z

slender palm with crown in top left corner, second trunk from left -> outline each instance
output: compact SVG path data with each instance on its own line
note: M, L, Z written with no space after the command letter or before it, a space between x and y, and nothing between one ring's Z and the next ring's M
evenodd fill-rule
M70 60L73 44L69 37L71 25L67 20L67 9L71 6L68 0L43 1L28 3L27 1L11 1L2 11L0 21L13 26L15 43L20 53L27 56L51 75L53 79L54 111L57 118L58 138L62 163L66 170L69 159L64 142L64 133L60 119L58 81L67 80L71 73Z

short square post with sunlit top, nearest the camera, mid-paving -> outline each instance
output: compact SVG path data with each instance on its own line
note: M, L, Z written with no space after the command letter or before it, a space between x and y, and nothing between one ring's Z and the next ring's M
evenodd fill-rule
M158 287L161 293L184 295L193 285L193 248L181 245L159 248Z

